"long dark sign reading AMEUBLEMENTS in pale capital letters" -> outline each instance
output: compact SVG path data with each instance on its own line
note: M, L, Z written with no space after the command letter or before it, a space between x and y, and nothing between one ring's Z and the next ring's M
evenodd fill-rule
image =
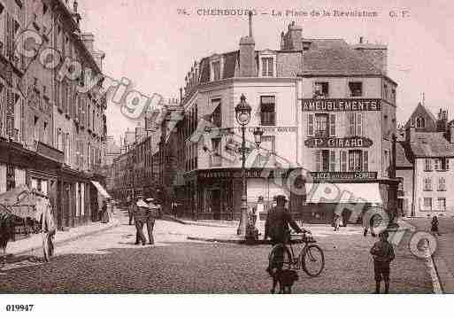
M380 99L347 99L347 98L330 98L330 99L313 99L307 98L301 101L303 112L373 112L381 111Z

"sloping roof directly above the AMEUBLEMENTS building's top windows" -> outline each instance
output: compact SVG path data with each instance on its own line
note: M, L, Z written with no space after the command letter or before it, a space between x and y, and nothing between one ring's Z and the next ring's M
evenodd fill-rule
M308 41L312 44L303 53L302 74L383 74L342 39Z

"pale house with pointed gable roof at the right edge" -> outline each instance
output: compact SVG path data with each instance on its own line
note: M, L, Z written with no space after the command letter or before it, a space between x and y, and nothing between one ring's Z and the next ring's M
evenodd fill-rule
M419 104L405 135L396 151L399 208L408 216L454 216L454 120Z

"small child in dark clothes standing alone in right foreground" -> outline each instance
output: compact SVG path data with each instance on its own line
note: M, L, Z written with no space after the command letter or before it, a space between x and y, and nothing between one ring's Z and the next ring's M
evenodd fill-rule
M385 294L389 292L389 263L394 260L393 245L388 242L388 231L380 233L380 240L373 244L373 271L375 274L375 293L380 293L381 280L385 281Z

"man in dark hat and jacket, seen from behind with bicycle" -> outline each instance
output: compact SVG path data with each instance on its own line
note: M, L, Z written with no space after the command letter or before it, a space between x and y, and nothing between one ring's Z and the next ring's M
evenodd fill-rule
M301 229L297 224L296 221L293 220L289 210L285 208L285 204L287 203L287 198L285 196L277 196L276 197L276 204L277 206L270 209L266 215L265 221L265 239L267 237L271 238L271 242L273 245L275 244L286 244L289 242L290 239L290 229L294 229L296 233L311 233L307 229ZM266 271L271 275L273 268L282 269L283 265L283 251L281 250L281 254L275 255L275 259L277 262L274 264L268 264Z

